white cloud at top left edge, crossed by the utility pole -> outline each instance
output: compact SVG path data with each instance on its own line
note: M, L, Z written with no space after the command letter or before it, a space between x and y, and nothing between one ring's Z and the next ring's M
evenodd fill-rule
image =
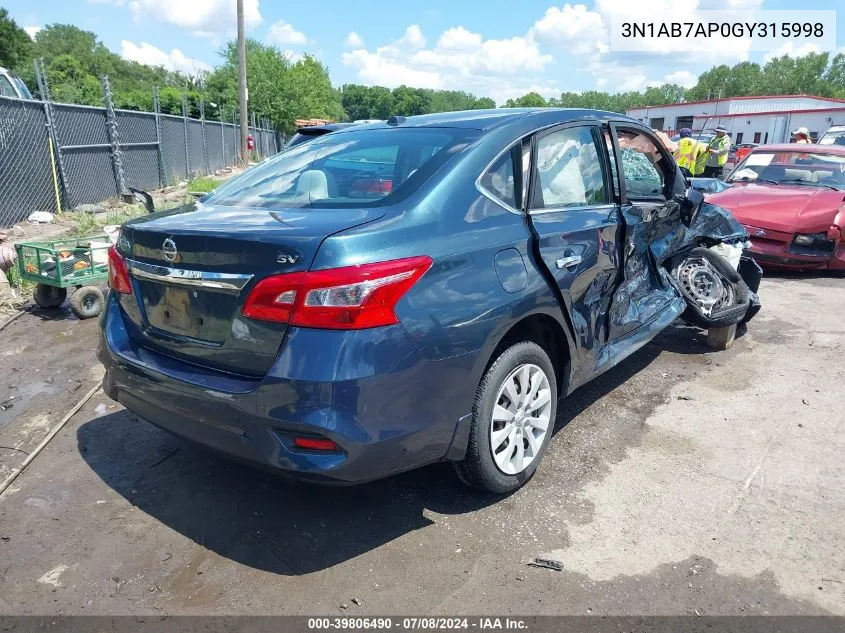
M190 29L194 35L230 34L237 30L233 0L132 0L129 2L129 10L136 21L152 18L158 22ZM261 19L258 0L244 0L244 21L247 28L258 26Z

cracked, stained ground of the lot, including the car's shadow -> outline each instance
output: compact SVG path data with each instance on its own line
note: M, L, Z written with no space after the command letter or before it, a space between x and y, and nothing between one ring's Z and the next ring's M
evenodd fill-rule
M843 614L845 280L761 296L732 350L675 326L564 401L501 500L448 465L287 483L98 393L0 497L0 612ZM96 384L96 329L0 333L0 479Z

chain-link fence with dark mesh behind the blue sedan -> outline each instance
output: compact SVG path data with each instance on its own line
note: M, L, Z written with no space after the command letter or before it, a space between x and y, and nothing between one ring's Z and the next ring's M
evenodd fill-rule
M215 121L0 97L0 227L239 164L240 130L222 114ZM281 149L267 121L251 123L259 159Z

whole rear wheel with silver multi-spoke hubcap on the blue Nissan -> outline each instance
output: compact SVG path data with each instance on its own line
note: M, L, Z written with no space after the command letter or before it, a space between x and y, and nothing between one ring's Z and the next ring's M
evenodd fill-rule
M557 412L554 366L536 343L502 352L481 380L467 455L456 464L466 483L505 494L531 479L546 451Z

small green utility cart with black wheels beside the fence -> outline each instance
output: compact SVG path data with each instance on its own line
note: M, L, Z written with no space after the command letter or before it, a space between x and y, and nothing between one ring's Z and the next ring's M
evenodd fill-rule
M36 284L33 298L41 308L58 308L70 296L70 308L80 319L100 314L105 299L99 286L108 279L108 236L97 235L53 242L16 244L21 278Z

